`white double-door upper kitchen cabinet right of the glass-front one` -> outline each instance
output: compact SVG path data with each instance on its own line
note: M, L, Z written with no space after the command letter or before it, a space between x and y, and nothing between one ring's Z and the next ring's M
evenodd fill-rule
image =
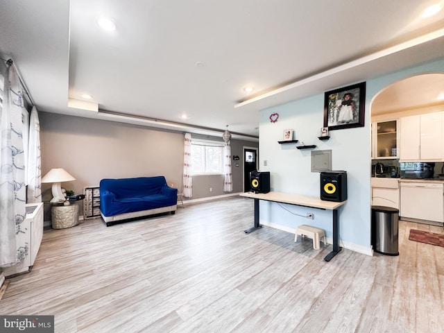
M443 160L443 112L401 117L400 160Z

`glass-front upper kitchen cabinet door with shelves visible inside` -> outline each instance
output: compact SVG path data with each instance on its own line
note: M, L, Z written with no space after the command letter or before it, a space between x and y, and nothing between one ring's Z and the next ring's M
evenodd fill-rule
M386 120L375 121L372 124L373 133L373 158L389 159L398 158L399 149L399 121Z

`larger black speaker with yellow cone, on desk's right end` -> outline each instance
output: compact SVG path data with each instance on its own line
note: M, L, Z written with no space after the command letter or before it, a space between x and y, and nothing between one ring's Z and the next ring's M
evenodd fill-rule
M321 200L338 203L347 200L347 171L321 172Z

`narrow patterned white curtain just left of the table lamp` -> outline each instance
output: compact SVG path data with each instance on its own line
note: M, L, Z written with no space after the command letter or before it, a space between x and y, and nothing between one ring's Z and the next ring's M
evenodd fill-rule
M40 162L40 121L35 106L29 120L28 164L26 180L28 183L28 203L42 202L42 165Z

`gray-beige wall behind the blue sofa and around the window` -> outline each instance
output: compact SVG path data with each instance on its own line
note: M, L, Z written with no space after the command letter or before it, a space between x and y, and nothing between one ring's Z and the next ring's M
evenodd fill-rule
M99 185L102 178L160 175L182 188L183 133L49 112L39 112L39 117L42 176L52 168L65 169L76 178L62 183L65 189L81 194L84 187ZM221 137L207 138L222 141ZM241 157L232 161L233 192L237 193L243 190L243 147L258 143L232 139L231 145L232 155ZM237 162L239 167L235 167ZM42 184L42 191L48 202L51 184ZM192 199L223 194L223 176L193 178ZM49 207L45 207L45 221L50 219Z

